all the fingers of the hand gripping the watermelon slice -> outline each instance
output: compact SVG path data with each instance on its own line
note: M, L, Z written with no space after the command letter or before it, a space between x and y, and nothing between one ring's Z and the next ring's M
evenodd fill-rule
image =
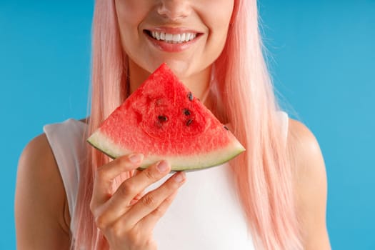
M184 184L185 174L179 172L169 178L158 189L141 196L147 186L159 181L169 173L171 167L166 161L149 166L126 179L112 194L112 183L124 171L133 171L141 164L143 155L123 156L101 166L96 171L90 208L94 214L96 226L106 231L109 228L131 230L141 219L148 228L171 204L176 190ZM125 219L126 218L126 219Z

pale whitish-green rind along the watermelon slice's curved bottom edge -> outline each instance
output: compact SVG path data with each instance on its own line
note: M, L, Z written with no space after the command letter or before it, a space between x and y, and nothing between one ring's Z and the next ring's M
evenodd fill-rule
M206 169L211 166L218 166L245 151L244 146L242 146L239 141L234 140L232 144L226 145L224 148L216 149L215 151L206 154L194 154L191 156L147 155L147 152L134 152L128 149L120 148L114 144L114 142L111 141L108 136L105 136L99 130L95 131L94 134L87 139L87 141L96 149L103 151L104 154L107 154L114 159L128 154L143 153L145 157L140 166L141 169L146 169L148 166L156 163L157 161L166 160L171 165L172 171L190 171Z

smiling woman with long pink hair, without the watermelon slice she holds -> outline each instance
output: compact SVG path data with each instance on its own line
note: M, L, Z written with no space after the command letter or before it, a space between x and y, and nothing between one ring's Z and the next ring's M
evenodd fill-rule
M246 153L204 171L169 174L161 161L134 174L142 155L109 161L86 146L163 62ZM97 0L90 118L44 131L19 161L19 249L330 248L321 151L279 111L255 0Z

